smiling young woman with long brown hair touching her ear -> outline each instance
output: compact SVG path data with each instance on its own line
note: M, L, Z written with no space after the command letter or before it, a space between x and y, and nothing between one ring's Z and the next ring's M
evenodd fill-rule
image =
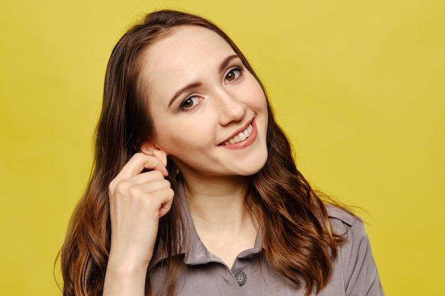
M157 11L107 67L63 295L382 295L362 221L323 202L244 55Z

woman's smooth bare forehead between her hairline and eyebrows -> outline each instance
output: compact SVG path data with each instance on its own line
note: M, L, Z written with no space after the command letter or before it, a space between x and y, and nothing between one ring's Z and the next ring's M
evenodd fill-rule
M185 80L217 71L234 54L230 44L208 28L179 26L147 48L141 75L152 90L170 91L187 83Z

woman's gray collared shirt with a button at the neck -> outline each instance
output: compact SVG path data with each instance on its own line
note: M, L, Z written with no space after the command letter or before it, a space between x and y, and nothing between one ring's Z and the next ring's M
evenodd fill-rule
M287 278L274 273L263 256L259 256L261 229L254 248L241 252L230 268L200 241L183 192L178 192L175 198L180 200L185 211L188 225L185 239L190 246L185 253L186 268L176 283L178 296L304 296L304 285L295 287ZM333 231L345 234L347 241L339 249L328 285L318 296L384 295L363 221L337 207L328 205L327 208ZM150 281L157 296L168 271L161 263L162 256L156 257L159 263Z

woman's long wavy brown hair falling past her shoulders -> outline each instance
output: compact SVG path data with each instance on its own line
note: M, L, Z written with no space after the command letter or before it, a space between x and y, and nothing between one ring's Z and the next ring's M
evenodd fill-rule
M156 11L122 36L107 66L90 183L71 218L60 252L65 296L102 295L111 237L108 185L142 143L153 136L153 124L146 112L149 92L143 89L139 75L141 54L173 28L184 25L202 26L218 33L261 84L235 43L220 28L199 16ZM319 292L326 286L333 258L343 239L332 233L326 207L296 169L289 140L277 125L268 99L267 105L269 156L264 168L250 178L245 202L262 223L264 257L270 268L296 286L302 285L303 278L309 295L312 290ZM172 161L168 162L168 171L176 192L181 174ZM168 261L173 271L166 279L168 295L174 295L174 283L183 267L176 256L181 243L181 221L180 211L173 202L171 211L159 222L163 243L158 241L156 248L162 248L173 258ZM151 268L146 281L148 294Z

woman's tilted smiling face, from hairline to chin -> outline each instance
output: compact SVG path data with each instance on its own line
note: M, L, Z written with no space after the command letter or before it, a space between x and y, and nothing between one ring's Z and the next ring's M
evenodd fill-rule
M175 28L144 53L156 148L185 177L247 176L267 160L264 92L229 44L198 26Z

